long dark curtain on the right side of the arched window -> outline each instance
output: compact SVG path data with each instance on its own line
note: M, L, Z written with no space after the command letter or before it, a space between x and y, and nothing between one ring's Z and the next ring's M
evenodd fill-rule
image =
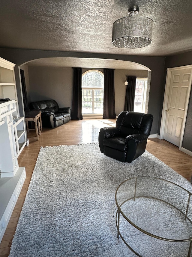
M115 119L114 69L104 69L103 119Z

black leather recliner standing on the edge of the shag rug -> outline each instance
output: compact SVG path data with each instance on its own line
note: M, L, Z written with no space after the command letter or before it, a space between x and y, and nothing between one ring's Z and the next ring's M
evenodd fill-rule
M104 127L99 132L102 153L123 162L132 162L145 152L153 122L152 114L122 111L116 127Z

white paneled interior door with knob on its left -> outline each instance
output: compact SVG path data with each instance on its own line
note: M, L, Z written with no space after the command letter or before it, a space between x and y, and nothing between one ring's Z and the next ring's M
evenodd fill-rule
M164 105L165 126L163 138L180 146L190 95L191 67L168 70L168 100Z

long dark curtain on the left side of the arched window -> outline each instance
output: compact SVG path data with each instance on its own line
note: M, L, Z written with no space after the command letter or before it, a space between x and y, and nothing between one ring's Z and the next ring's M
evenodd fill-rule
M82 68L73 68L73 102L71 120L82 120Z

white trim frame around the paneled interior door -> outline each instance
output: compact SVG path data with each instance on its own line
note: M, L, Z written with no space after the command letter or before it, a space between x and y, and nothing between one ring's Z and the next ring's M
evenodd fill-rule
M171 71L173 71L173 70L176 71L176 70L181 70L181 69L186 69L186 68L191 68L191 75L190 75L189 90L188 90L188 94L187 94L187 99L186 99L187 101L186 101L186 107L185 107L185 112L184 112L182 130L181 130L181 139L180 139L180 144L179 144L179 150L181 150L181 147L182 147L185 122L186 122L186 118L187 118L187 109L188 109L188 105L189 105L189 97L190 97L191 83L192 83L192 64L186 65L186 66L181 66L181 67L167 68L164 102L163 102L163 110L162 110L162 116L161 116L161 128L160 128L160 135L159 135L159 139L163 139L164 131L165 131L165 119L166 119L166 111L165 110L167 109L167 103L168 103Z

